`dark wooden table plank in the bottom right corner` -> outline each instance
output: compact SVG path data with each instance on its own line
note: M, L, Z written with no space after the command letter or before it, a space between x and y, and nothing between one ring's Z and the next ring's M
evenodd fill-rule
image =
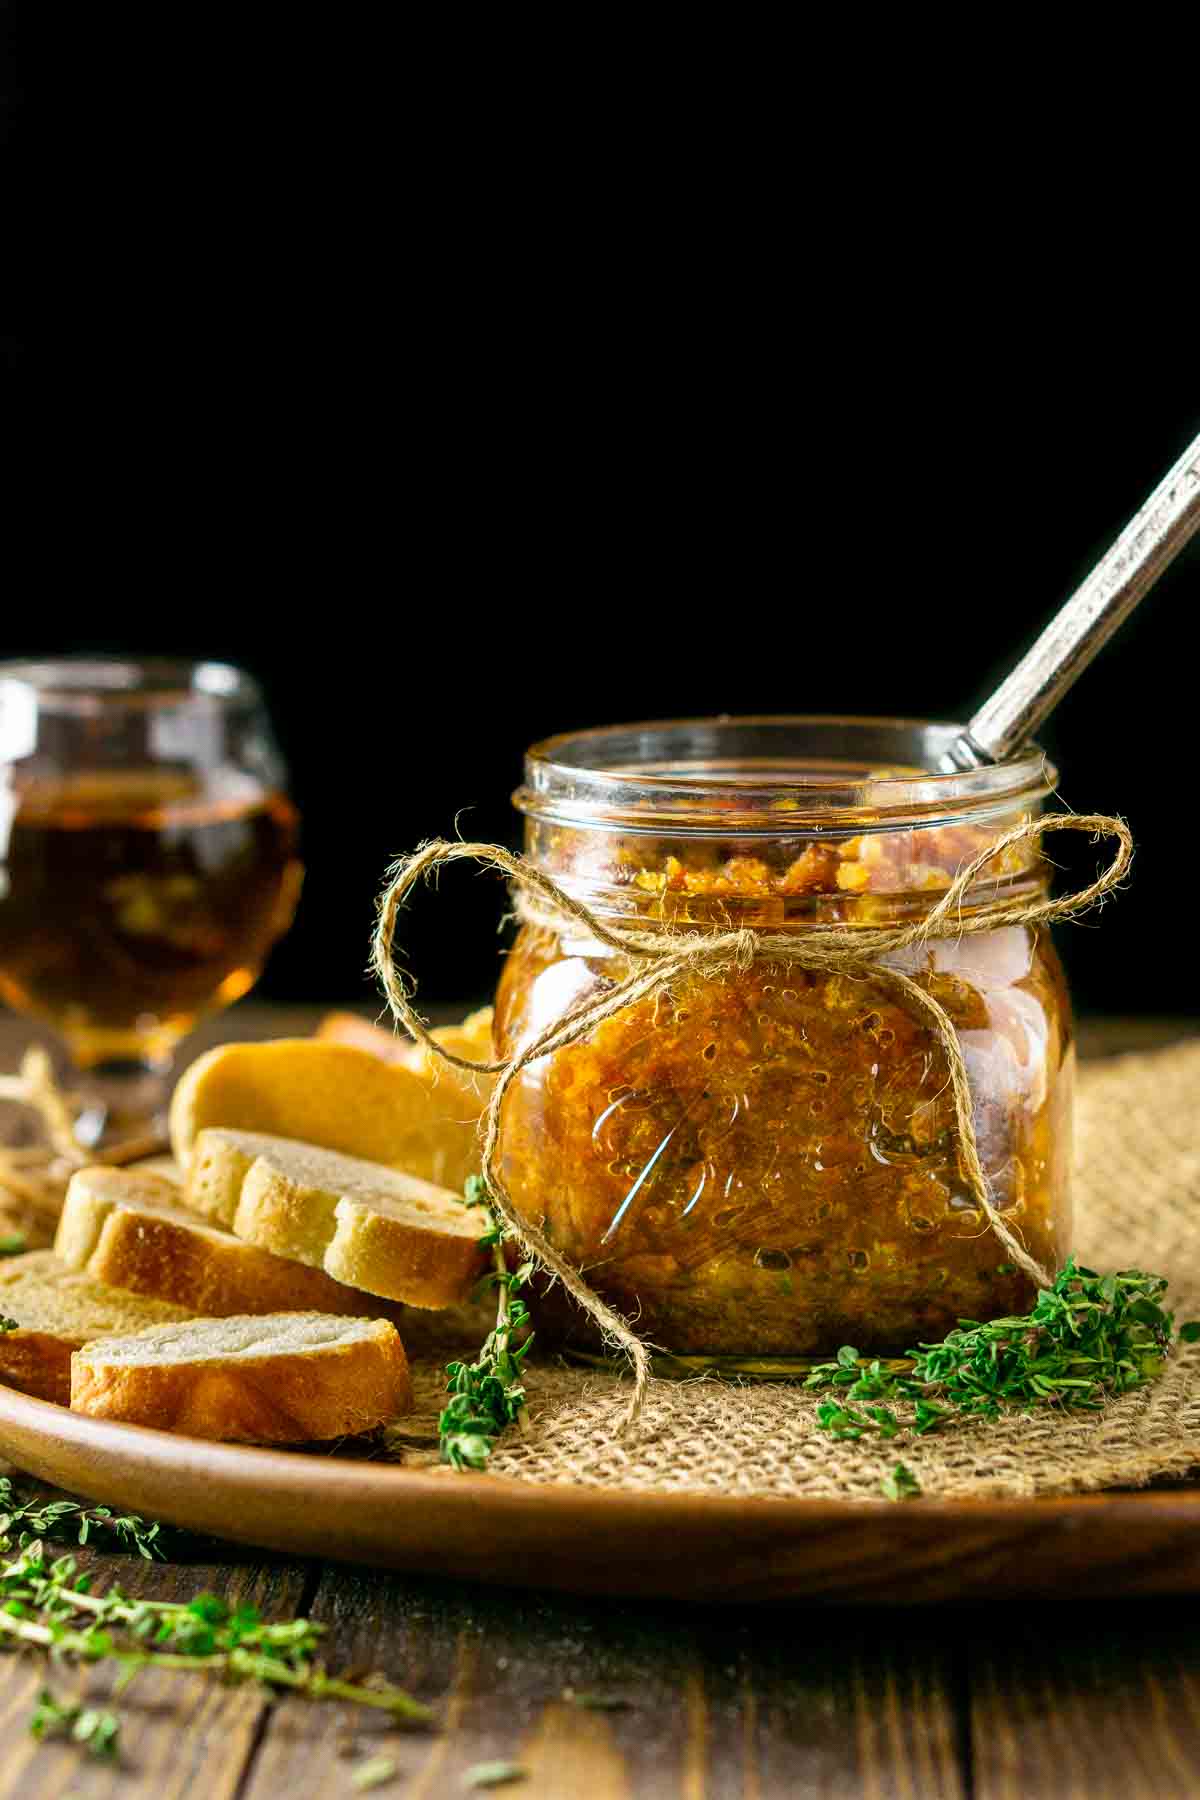
M1042 1607L966 1636L979 1800L1195 1800L1195 1607Z

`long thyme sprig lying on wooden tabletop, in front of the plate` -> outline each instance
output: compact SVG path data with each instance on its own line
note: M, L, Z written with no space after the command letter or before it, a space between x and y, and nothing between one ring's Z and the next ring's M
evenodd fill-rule
M221 1681L257 1681L306 1699L374 1706L396 1721L426 1724L428 1706L381 1679L342 1681L315 1661L324 1625L311 1618L272 1624L250 1606L230 1607L212 1593L194 1600L135 1600L113 1586L94 1595L74 1557L47 1561L34 1541L0 1568L0 1649L31 1649L56 1663L112 1661L124 1692L142 1669L191 1670ZM70 1715L70 1717L67 1717ZM86 1710L63 1708L43 1692L31 1721L34 1735L70 1730L92 1750L110 1751L115 1721L88 1723Z

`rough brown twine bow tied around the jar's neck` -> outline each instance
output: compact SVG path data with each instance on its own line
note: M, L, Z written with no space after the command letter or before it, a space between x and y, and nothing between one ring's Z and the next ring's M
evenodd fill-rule
M986 905L970 913L963 911L963 900L972 882L995 857L1015 844L1036 842L1047 832L1088 832L1094 842L1110 837L1117 841L1117 850L1103 873L1074 895L1063 895L1058 900L1016 902L1011 905ZM1049 1287L1049 1273L1029 1255L1016 1231L1004 1220L991 1201L988 1177L979 1161L966 1062L963 1060L963 1048L950 1013L918 981L905 976L900 968L883 963L882 958L905 950L910 945L927 943L932 938L964 938L997 931L1002 925L1042 925L1056 918L1076 918L1121 882L1132 855L1133 839L1123 819L1106 814L1047 814L1042 819L1013 826L1013 830L999 837L988 850L964 864L941 900L923 918L909 925L831 925L810 931L793 929L790 932L770 932L756 927L732 931L703 931L698 927L687 927L685 931L644 931L639 927L613 929L606 925L587 905L560 887L558 882L534 868L533 862L513 855L513 851L504 850L500 844L461 844L437 839L423 844L412 857L403 857L389 869L387 887L378 905L371 961L398 1024L403 1024L414 1039L457 1069L498 1076L482 1129L482 1174L491 1204L525 1253L552 1276L558 1276L567 1292L599 1325L606 1341L628 1355L633 1364L633 1399L622 1422L622 1429L628 1429L642 1409L649 1384L648 1346L630 1327L628 1319L621 1318L619 1312L608 1307L588 1287L579 1271L554 1249L545 1233L518 1215L500 1179L500 1114L506 1094L522 1069L527 1069L540 1057L549 1057L569 1044L578 1044L604 1019L612 1019L622 1008L662 992L685 974L714 979L729 970L745 970L754 961L793 963L801 968L858 976L871 974L889 983L898 994L903 994L914 1012L928 1021L950 1069L963 1177L1011 1260L1038 1287ZM511 1057L498 1058L497 1062L473 1062L468 1057L459 1057L430 1035L428 1026L412 1006L407 977L398 970L394 958L396 922L412 887L439 864L462 860L482 862L507 875L518 891L525 916L558 931L570 923L579 925L590 940L617 950L633 965L624 979L613 981L599 992L583 997L543 1031L522 1042Z

